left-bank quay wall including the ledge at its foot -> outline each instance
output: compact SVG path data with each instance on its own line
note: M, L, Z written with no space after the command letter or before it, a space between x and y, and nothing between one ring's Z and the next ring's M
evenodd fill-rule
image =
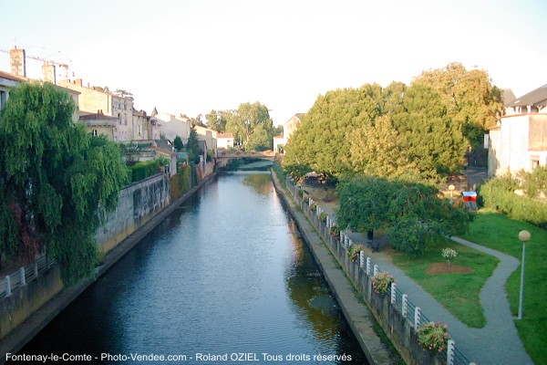
M96 268L96 278L215 175L213 172L207 176L175 202L170 202L169 178L161 174L123 189L116 211L98 229L102 265ZM10 297L0 298L0 365L5 363L7 353L22 349L93 282L91 278L64 287L59 266L53 266L25 287L15 289Z

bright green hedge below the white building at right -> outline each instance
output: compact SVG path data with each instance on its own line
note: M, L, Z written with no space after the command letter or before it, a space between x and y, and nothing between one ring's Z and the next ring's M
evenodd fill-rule
M541 170L536 173L542 176ZM516 178L506 174L482 184L479 193L485 206L507 214L513 219L547 228L547 203L515 194L514 191L520 187L519 185ZM535 193L542 186L541 178L534 179L531 183L522 183L522 185L532 185L534 189L537 189L534 190Z

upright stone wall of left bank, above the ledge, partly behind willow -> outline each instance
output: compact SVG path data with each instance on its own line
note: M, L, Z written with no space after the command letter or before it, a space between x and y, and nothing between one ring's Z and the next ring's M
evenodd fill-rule
M105 224L96 235L101 257L169 205L169 185L168 176L157 174L133 183L120 192L118 207L107 214ZM59 267L53 266L24 287L16 288L10 296L1 297L0 339L4 339L63 289Z

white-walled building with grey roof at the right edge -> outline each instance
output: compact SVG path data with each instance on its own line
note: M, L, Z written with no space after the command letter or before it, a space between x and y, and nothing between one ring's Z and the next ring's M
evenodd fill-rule
M547 166L547 85L505 104L505 115L490 128L489 176Z

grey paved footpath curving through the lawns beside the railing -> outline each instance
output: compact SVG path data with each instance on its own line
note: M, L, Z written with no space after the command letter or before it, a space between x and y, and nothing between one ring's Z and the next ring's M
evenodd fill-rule
M332 203L316 202L327 214L334 214ZM355 232L344 231L354 242L366 242L366 237ZM469 328L452 316L439 302L431 297L414 280L394 266L386 253L372 252L366 248L366 255L371 257L380 271L392 273L397 280L397 288L408 294L415 306L432 321L442 321L449 325L449 334L456 342L456 347L472 362L478 365L533 364L524 350L515 327L517 320L511 315L509 302L505 293L505 283L511 273L520 265L520 261L510 255L502 254L482 245L452 237L454 242L467 245L488 255L496 256L500 264L487 280L480 292L480 304L484 308L487 324L484 328Z

